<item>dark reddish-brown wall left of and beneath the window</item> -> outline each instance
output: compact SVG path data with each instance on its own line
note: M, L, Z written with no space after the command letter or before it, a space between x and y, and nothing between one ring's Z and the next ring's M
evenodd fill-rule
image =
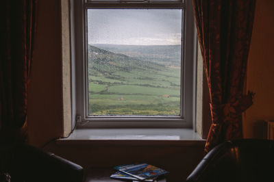
M62 0L63 1L63 0ZM28 92L27 122L29 143L42 147L64 134L64 88L62 75L66 66L62 59L61 0L38 1L38 25L35 37L34 60ZM64 0L66 1L66 0ZM90 166L115 166L117 163L147 161L169 170L171 181L184 181L203 157L203 145L144 146L144 145L55 145L45 148L85 168ZM50 147L51 146L51 147ZM124 157L130 154L129 157ZM175 175L174 175L175 174Z

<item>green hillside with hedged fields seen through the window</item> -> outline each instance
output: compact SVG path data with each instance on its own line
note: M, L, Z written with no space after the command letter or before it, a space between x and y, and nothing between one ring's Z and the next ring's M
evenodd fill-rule
M88 114L179 115L178 67L89 45Z

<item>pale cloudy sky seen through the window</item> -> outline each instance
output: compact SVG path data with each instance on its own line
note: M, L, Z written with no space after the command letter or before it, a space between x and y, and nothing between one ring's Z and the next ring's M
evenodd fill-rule
M182 10L88 10L88 44L181 44L181 32Z

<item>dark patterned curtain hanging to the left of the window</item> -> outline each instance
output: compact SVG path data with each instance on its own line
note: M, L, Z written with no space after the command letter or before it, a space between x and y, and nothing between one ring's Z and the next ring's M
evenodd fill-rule
M0 142L27 140L27 84L36 0L3 0L0 8Z

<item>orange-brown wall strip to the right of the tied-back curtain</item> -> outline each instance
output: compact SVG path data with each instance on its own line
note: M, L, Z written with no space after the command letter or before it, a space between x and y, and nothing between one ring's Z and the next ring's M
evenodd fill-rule
M274 120L274 1L256 1L256 12L247 66L247 90L255 92L253 105L244 114L245 138L263 138L264 123Z

